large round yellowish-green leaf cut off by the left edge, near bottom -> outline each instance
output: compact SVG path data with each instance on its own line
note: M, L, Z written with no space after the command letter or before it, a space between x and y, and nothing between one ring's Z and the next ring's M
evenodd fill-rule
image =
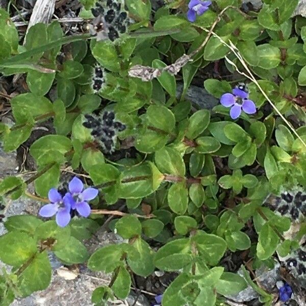
M0 260L7 265L19 266L36 252L35 240L26 233L12 231L0 237Z

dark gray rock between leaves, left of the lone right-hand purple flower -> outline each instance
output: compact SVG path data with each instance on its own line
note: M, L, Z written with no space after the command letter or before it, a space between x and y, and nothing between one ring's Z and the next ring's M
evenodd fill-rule
M180 97L182 92L183 83L177 83L176 96ZM194 85L189 86L185 99L190 100L196 108L200 109L211 110L219 104L219 100L208 93L204 87L198 87Z

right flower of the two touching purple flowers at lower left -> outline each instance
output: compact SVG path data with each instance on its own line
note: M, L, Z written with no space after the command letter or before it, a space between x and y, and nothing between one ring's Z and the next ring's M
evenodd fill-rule
M68 200L71 204L72 209L76 209L78 213L83 217L88 217L90 215L90 206L88 201L94 199L98 190L95 188L86 188L77 176L74 176L68 185L69 192Z

